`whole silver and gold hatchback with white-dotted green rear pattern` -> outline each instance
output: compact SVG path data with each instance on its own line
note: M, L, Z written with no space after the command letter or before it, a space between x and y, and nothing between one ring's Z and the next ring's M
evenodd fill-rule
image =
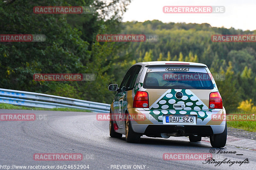
M109 85L116 96L110 107L111 137L125 135L137 143L148 137L188 136L191 142L210 137L212 147L224 147L227 123L222 99L205 64L143 62L134 64L121 85Z

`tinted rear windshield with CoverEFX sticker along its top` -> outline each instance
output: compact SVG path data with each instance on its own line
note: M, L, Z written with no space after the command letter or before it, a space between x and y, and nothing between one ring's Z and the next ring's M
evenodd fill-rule
M149 67L143 83L148 89L213 89L212 80L200 67Z

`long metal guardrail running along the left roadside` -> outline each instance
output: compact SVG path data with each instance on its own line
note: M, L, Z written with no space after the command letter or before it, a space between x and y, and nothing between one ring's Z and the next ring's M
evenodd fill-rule
M43 93L26 92L0 88L0 103L8 103L26 107L44 108L77 108L93 112L109 113L109 104L93 101L60 97Z

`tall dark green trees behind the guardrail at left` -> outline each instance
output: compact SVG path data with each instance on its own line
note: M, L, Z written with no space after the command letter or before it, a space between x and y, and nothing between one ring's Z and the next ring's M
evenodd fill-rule
M108 84L113 81L117 53L124 44L98 43L98 33L118 33L130 0L0 1L1 34L45 34L44 42L0 43L1 88L25 90L111 102ZM34 14L34 6L92 6L94 14ZM129 56L124 53L124 56ZM35 73L94 73L94 82L34 81ZM100 90L99 90L100 89ZM95 93L98 92L95 97Z

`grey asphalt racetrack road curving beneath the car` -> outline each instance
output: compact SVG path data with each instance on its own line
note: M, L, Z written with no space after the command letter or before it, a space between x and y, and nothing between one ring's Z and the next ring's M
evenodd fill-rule
M122 139L111 138L109 122L97 121L95 113L3 109L0 113L36 114L35 121L0 121L0 169L7 166L10 169L24 169L15 166L27 166L26 169L30 169L28 166L38 165L55 166L53 169L57 169L58 165L59 169L63 165L66 165L66 169L71 169L71 165L89 165L90 170L124 169L120 167L122 165L131 165L130 169L146 170L255 169L256 166L255 151L226 146L223 151L232 153L216 154L218 150L212 148L209 142L193 143L189 142L188 137L163 139L143 136L139 144L127 143L124 135ZM236 163L215 166L216 163L209 164L205 160L163 159L164 153L202 154L210 153L210 149L216 151L212 153L215 161L225 158L227 161L243 161L248 158L249 162L240 166ZM81 153L83 160L36 161L33 159L35 153Z

